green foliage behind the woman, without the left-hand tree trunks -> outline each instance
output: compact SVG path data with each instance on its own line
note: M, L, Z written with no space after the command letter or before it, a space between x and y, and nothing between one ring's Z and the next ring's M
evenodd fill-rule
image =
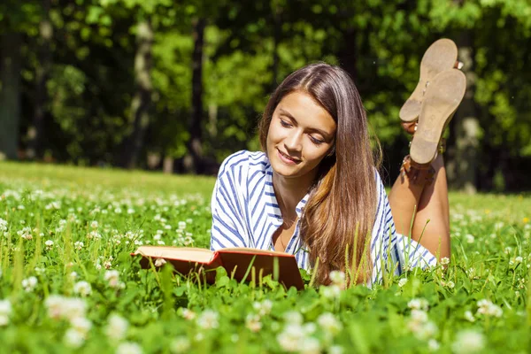
M43 6L35 0L0 4L0 34L25 35L23 133L37 104ZM182 158L193 96L192 22L203 18L205 156L220 162L235 150L257 149L256 121L268 94L296 68L324 60L352 75L373 132L397 165L402 156L394 154L406 147L397 113L418 82L424 50L440 37L459 42L466 36L471 42L460 45L472 50L468 80L481 126L478 180L489 185L499 167L490 157L505 165L525 165L531 157L530 14L526 0L50 0L44 148L62 162L116 164L134 129L136 27L149 19L155 31L153 91L142 161L149 152ZM22 145L27 140L20 139Z

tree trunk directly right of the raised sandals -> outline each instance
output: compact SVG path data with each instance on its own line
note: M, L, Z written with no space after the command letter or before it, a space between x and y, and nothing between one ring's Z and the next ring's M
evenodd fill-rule
M473 194L477 190L480 123L473 101L477 78L473 72L474 53L471 33L463 32L457 44L458 59L463 63L462 70L466 74L466 94L451 121L451 139L454 143L448 150L447 171L451 188Z

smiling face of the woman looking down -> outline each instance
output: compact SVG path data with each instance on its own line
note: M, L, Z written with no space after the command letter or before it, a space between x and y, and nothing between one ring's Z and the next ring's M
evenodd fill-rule
M267 156L275 173L297 178L317 173L334 145L336 124L312 96L294 91L273 112L267 134Z

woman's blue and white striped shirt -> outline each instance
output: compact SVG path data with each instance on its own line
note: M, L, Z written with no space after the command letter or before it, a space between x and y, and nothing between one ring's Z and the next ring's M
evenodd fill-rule
M371 237L373 275L403 273L406 268L435 266L436 258L419 243L396 233L389 201L380 175L376 175L378 208ZM296 205L298 220L309 195ZM264 152L238 151L223 161L212 193L211 250L247 247L274 250L273 233L282 215L273 190L273 168ZM300 237L299 221L285 252L295 255L299 268L311 268L309 253ZM370 285L370 283L368 285Z

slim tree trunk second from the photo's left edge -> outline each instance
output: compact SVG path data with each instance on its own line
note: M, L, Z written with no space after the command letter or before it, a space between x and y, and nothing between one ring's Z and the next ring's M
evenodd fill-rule
M51 71L51 39L53 37L53 27L50 21L50 0L42 0L44 16L39 25L39 59L35 75L35 112L33 127L28 130L29 142L27 146L27 158L42 159L44 155L44 117L46 115L47 91L46 82Z

